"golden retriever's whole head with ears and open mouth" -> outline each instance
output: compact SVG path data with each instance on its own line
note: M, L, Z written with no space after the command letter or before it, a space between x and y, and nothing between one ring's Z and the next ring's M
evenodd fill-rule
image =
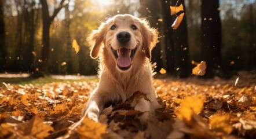
M108 60L114 60L116 68L123 72L129 71L134 59L151 58L151 49L158 42L158 31L150 28L146 20L130 14L119 14L102 23L87 41L91 46L92 58L97 58L103 47L103 58L108 56ZM109 55L112 55L112 59L109 59Z

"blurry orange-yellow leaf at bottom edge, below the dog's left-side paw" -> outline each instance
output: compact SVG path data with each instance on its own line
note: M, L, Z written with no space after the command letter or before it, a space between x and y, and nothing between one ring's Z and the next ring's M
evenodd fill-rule
M107 125L96 123L89 118L82 121L82 125L76 129L79 138L102 138L101 135L105 133Z

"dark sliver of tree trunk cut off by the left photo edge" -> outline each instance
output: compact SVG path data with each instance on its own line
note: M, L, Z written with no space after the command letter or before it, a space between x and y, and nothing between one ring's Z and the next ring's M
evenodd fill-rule
M3 1L0 1L0 70L5 68L6 49L5 49L5 21L3 20Z

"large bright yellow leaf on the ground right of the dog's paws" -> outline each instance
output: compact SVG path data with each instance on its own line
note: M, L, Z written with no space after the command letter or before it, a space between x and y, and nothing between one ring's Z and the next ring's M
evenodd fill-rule
M175 109L174 114L177 118L188 122L192 119L192 115L198 114L203 109L203 100L200 98L186 97L180 104L180 107Z

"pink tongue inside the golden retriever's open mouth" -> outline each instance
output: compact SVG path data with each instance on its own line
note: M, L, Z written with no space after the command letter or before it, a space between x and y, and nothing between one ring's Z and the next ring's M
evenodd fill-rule
M130 50L121 48L118 50L118 65L120 67L129 67L131 65Z

